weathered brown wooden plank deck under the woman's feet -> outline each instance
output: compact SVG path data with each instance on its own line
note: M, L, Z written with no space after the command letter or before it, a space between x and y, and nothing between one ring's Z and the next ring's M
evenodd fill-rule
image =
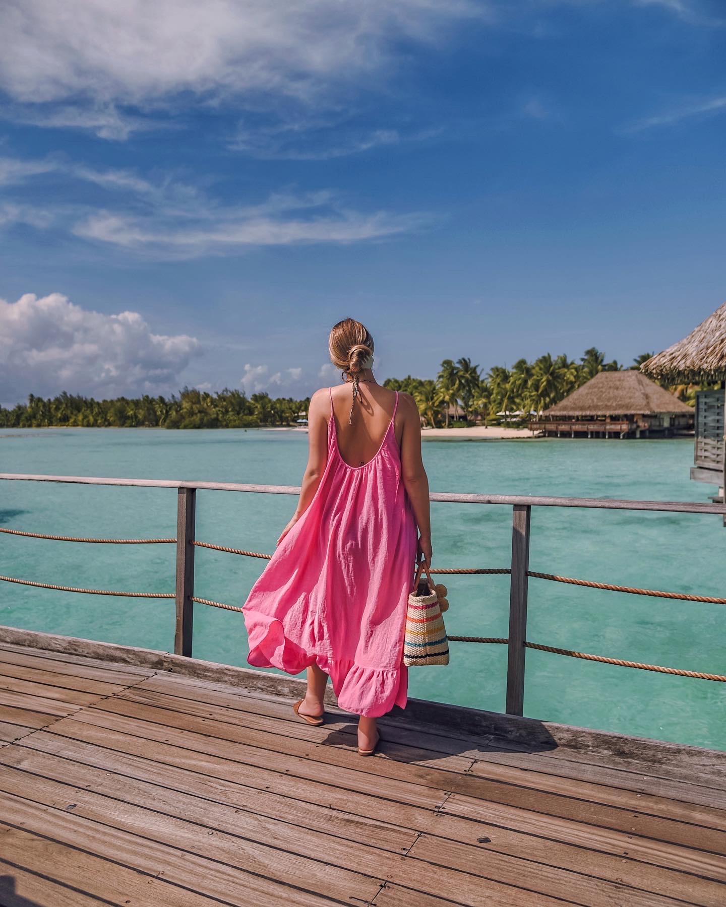
M0 645L3 907L726 903L724 753L146 660Z

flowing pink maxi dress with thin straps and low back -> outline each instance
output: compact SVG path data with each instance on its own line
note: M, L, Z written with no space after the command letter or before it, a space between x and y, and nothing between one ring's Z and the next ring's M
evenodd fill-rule
M255 668L317 664L338 705L370 717L405 707L403 641L417 524L401 479L393 416L361 466L340 455L330 393L328 462L318 489L250 590L243 616Z

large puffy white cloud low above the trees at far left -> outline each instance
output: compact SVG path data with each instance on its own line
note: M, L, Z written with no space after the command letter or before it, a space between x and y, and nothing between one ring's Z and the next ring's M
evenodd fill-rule
M60 293L0 299L0 398L29 393L113 397L168 394L201 345L153 334L138 312L103 315Z

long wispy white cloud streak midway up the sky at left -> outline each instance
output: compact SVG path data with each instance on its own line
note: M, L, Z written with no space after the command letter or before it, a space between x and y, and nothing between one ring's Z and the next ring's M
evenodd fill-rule
M19 161L0 158L0 183L30 180L39 175L91 182L121 200L116 209L74 200L44 210L13 204L0 207L0 226L25 222L59 229L81 239L134 252L145 258L198 258L227 255L261 246L311 243L347 244L381 239L425 225L422 214L385 210L352 210L330 190L273 192L255 204L221 204L197 187L162 176L147 180L133 171L98 171L91 167L46 158ZM114 200L115 200L114 198ZM60 216L63 215L63 216Z

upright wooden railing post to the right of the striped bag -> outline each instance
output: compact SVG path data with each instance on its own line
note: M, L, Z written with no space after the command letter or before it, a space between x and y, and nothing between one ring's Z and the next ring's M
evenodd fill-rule
M525 639L527 632L527 571L532 508L515 504L512 519L512 576L509 585L509 653L506 664L508 715L522 715L525 707Z

